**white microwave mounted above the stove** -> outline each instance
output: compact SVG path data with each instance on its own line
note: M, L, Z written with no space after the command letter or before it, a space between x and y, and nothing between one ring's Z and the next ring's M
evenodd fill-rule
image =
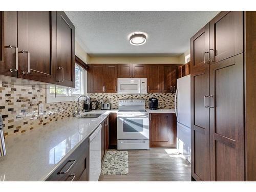
M118 94L146 94L146 78L117 78Z

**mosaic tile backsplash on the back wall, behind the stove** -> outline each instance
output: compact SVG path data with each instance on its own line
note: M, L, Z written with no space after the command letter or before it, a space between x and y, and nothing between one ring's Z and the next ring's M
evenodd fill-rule
M145 108L148 109L148 99L158 99L159 109L174 109L175 93L148 93L148 94L117 94L117 93L94 93L90 94L91 100L110 102L111 109L118 109L119 99L145 99Z

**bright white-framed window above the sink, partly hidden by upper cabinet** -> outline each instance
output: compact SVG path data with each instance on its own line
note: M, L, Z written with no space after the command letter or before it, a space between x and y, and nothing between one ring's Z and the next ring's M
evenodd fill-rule
M87 71L79 65L75 65L75 88L61 88L59 86L50 86L47 89L46 101L72 101L76 100L79 95L86 94Z

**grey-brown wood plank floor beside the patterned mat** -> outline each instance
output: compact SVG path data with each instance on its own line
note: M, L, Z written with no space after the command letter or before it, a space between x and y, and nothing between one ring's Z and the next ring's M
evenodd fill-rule
M176 148L128 151L129 174L100 175L99 181L191 181L190 163Z

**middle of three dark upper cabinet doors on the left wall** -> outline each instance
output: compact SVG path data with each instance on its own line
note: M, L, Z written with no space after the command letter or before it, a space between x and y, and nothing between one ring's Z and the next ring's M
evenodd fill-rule
M17 14L18 77L55 83L56 12L18 11Z

